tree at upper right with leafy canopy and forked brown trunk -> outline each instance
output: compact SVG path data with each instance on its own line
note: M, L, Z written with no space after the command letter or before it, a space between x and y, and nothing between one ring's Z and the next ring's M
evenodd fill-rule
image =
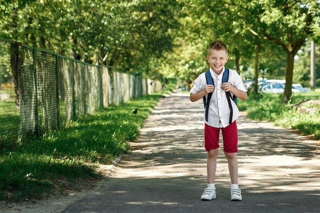
M195 17L206 17L207 22L201 27L213 32L212 35L216 38L223 38L228 43L235 44L231 45L230 49L235 56L234 59L231 57L231 61L235 61L237 69L240 67L240 58L250 56L253 53L251 50L255 49L257 54L264 54L261 51L264 40L281 46L287 54L283 102L287 103L290 100L294 56L308 37L319 39L319 1L217 0L212 2L190 0L187 2L193 7L194 14L199 14ZM256 36L258 40L248 33ZM242 48L237 48L237 46L242 46ZM247 53L240 52L246 49L251 50ZM257 63L261 58L257 54L255 57L257 58L256 75L259 69ZM242 60L244 61L245 59Z

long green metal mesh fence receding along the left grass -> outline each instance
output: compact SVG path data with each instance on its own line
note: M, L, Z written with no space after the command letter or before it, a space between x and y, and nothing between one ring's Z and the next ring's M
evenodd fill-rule
M0 38L0 149L160 89L141 75Z

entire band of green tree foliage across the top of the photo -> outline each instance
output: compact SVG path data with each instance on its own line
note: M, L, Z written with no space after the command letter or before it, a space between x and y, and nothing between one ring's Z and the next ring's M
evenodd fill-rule
M221 39L229 48L226 66L243 78L286 77L288 95L292 79L307 85L308 73L292 72L293 57L307 38L319 44L319 8L314 0L14 0L0 6L0 36L126 73L186 82L209 68L209 44Z

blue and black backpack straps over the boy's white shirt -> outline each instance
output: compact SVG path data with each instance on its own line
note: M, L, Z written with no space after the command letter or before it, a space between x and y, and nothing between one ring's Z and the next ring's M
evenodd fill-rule
M210 69L207 72L205 72L205 79L207 80L207 84L214 85L213 79L210 74ZM225 68L224 73L222 75L222 83L228 82L228 79L229 79L229 69ZM210 104L210 99L212 97L212 93L213 92L208 93L208 100L206 100L205 96L203 96L203 104L204 104L204 108L205 108L205 121L207 121L207 122L208 122L209 104ZM232 97L230 91L225 92L225 94L226 94L226 98L227 98L228 105L230 108L229 124L231 124L232 123L232 116L233 116L233 109L232 109L231 100L237 104L237 97L236 96Z

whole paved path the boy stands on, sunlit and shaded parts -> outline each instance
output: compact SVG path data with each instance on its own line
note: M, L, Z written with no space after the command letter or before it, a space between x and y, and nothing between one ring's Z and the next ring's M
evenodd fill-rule
M100 190L63 212L320 212L319 141L244 116L237 120L243 200L230 201L220 151L217 199L201 201L207 186L202 112L201 101L186 94L162 99Z

